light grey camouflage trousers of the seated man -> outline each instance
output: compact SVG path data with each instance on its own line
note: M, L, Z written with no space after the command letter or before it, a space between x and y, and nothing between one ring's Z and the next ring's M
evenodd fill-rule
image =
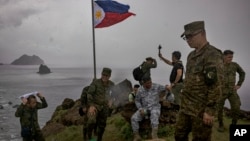
M160 108L153 108L152 110L149 110L150 116L142 116L140 114L140 111L137 110L131 117L131 126L133 129L133 132L139 131L139 122L143 120L143 118L149 118L151 122L152 128L158 128L159 125L159 117L161 114Z

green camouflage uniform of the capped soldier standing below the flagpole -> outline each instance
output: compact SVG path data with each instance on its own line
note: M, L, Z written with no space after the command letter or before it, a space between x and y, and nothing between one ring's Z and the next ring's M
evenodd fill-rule
M94 116L88 116L88 132L92 133L95 124L97 124L97 134L98 140L101 140L101 137L104 133L106 127L106 120L109 116L109 100L111 98L111 87L114 86L114 83L108 80L107 84L104 84L102 79L97 79L91 83L88 90L88 105L95 106L97 113ZM90 134L90 133L88 133Z

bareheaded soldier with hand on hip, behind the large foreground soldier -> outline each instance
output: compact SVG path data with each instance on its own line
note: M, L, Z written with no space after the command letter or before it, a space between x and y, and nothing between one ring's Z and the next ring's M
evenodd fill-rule
M223 125L223 107L226 99L229 100L232 111L232 124L236 124L240 112L240 97L237 90L241 87L245 80L245 72L236 62L232 62L234 52L231 50L224 51L224 79L223 79L223 95L218 103L218 131L224 131ZM236 73L239 74L239 80L236 84ZM235 85L236 84L236 85Z

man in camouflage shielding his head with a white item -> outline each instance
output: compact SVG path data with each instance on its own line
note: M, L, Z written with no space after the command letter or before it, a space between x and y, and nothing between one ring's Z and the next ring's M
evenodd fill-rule
M37 96L42 103L37 102L34 95L30 95L27 99L22 98L22 104L15 113L16 117L20 117L23 141L45 141L38 124L37 110L46 108L48 104L40 93Z

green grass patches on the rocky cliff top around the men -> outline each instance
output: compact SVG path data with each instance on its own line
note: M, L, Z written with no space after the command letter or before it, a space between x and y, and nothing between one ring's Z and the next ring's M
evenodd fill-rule
M217 131L218 122L215 122L213 127L212 141L229 141L229 125L231 118L225 117L225 132ZM239 124L250 124L250 121L240 120ZM167 141L174 141L174 126L167 125L159 129L158 135L160 138ZM190 134L190 140L192 135ZM143 136L144 139L146 136ZM82 141L82 126L66 127L64 131L51 135L46 138L46 141ZM132 141L133 133L131 126L127 123L120 114L113 115L108 118L106 130L103 136L103 141Z

